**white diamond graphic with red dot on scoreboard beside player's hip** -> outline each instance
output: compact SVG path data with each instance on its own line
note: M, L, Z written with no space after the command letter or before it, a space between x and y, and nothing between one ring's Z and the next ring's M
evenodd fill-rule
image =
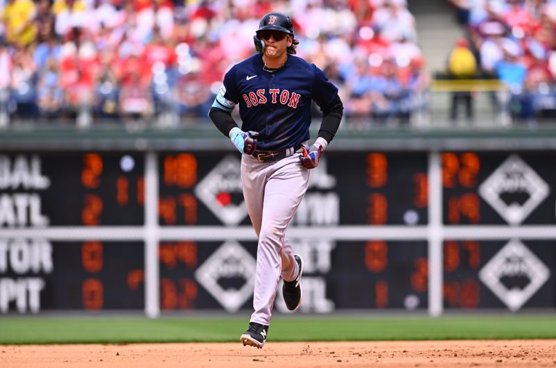
M240 161L226 156L195 187L195 195L226 225L237 225L247 208L243 199Z

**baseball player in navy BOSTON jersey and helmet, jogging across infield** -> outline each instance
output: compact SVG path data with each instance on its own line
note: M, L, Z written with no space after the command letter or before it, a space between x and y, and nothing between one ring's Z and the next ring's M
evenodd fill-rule
M288 310L300 306L303 260L293 253L286 228L309 186L310 169L317 167L338 130L343 105L322 71L293 55L299 41L290 17L264 15L254 42L258 53L226 73L208 116L243 154L243 196L259 244L254 312L240 340L261 349L280 277ZM318 137L309 145L311 101L323 117ZM231 117L237 104L241 128Z

